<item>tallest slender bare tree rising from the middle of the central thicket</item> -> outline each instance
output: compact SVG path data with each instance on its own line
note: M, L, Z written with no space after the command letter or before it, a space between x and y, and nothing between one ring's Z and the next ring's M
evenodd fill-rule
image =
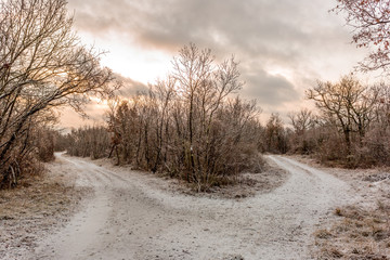
M176 88L187 106L186 142L183 148L184 154L188 155L188 180L196 179L196 171L203 171L195 161L195 150L199 150L206 142L204 156L208 156L210 125L223 99L242 88L243 82L238 77L237 63L233 57L216 65L211 50L199 50L193 43L182 48L180 55L173 60ZM195 120L199 128L195 128Z

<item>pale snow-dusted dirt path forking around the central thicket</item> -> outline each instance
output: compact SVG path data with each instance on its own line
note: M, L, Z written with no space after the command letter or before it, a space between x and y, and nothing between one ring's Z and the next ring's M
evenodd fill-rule
M282 156L268 159L290 172L286 183L242 200L173 194L138 172L57 156L94 196L34 259L310 259L315 224L351 197L341 180Z

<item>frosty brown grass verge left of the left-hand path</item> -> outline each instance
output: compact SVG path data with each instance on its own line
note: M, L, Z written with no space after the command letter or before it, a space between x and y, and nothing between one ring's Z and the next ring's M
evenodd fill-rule
M76 210L86 188L66 185L61 162L50 166L57 172L29 176L17 188L0 191L0 256L18 259L37 242L58 229Z

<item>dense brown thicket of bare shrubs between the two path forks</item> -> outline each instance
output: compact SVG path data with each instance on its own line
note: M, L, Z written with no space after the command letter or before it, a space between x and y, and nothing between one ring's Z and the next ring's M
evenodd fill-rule
M233 58L217 64L210 50L184 47L166 80L113 107L117 162L169 172L199 190L260 170L259 110L232 96L242 88L238 77Z

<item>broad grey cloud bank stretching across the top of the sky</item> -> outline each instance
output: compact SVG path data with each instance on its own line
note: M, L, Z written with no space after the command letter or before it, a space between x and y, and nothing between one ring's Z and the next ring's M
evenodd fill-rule
M315 55L325 41L339 43L344 34L335 29L337 21L326 20L332 5L323 0L69 0L69 5L81 30L100 37L114 32L170 52L195 42L291 64Z

